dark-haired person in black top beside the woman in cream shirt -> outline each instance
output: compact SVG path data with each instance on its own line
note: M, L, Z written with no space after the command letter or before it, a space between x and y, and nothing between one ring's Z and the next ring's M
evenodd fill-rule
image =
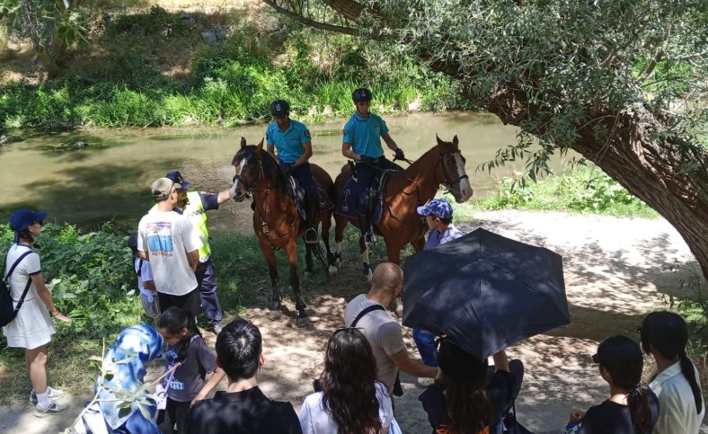
M659 401L640 383L644 359L637 342L612 336L600 342L592 359L610 386L610 397L588 412L571 412L571 424L580 425L577 433L650 434L659 417Z

